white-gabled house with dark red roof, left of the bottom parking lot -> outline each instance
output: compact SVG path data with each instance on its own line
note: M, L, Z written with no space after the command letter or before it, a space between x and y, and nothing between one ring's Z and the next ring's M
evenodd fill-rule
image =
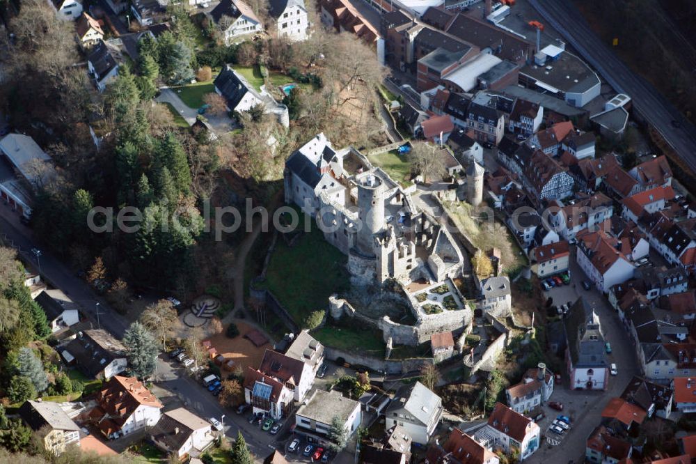
M520 461L524 461L539 449L541 428L532 419L503 403L496 403L487 425L477 431L474 438L484 447L501 449L505 453L517 449Z

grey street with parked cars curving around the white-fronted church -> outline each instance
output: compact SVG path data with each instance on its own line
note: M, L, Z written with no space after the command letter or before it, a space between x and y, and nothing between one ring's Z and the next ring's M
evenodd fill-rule
M611 343L612 353L608 355L608 358L610 363L617 364L619 375L610 376L608 388L604 392L584 390L576 392L568 388L567 373L562 373L563 385L556 385L551 400L564 404L563 414L571 417L573 426L564 434L562 445L552 447L544 442L539 450L528 458L529 463L567 463L571 459L576 463L584 462L587 437L599 425L602 410L610 399L622 394L631 377L639 373L633 343L628 338L616 311L594 286L589 291L585 291L580 286L580 281L587 277L577 265L575 256L575 247L572 247L571 284L552 288L544 294L553 298L553 304L575 302L578 297L583 297L590 303L599 316L604 338ZM548 422L551 422L549 417L553 418L559 414L550 408L545 409Z

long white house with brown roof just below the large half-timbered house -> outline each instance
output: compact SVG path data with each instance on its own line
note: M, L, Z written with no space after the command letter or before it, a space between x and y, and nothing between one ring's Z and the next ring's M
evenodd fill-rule
M582 196L578 195L580 198ZM580 231L595 231L613 214L612 200L601 192L550 208L548 217L553 229L565 240L573 240Z

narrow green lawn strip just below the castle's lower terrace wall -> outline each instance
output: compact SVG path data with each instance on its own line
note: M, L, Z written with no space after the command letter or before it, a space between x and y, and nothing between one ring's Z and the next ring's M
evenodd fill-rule
M365 325L343 321L337 325L331 323L313 330L312 337L326 346L379 357L380 359L383 359L386 349L381 331Z

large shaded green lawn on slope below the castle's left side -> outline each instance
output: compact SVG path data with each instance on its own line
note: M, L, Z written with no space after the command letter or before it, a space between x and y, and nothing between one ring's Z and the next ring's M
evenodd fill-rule
M303 219L299 227L303 226ZM303 233L292 247L278 240L262 285L301 325L310 313L328 307L329 295L347 289L346 263L347 257L326 242L312 222L312 231Z

